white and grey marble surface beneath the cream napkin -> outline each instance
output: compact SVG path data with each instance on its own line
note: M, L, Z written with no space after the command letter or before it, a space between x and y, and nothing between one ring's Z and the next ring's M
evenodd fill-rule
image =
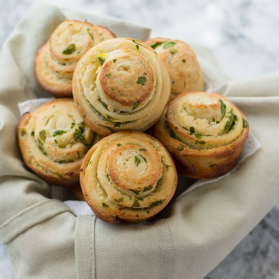
M0 0L0 48L33 0ZM210 48L232 79L279 72L276 0L50 0L49 4L110 15L149 26L154 33ZM279 278L279 203L206 279ZM0 279L14 278L0 245Z

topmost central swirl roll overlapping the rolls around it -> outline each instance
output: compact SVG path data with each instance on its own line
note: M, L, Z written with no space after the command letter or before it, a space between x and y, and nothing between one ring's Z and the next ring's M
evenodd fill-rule
M96 133L145 131L161 116L170 83L161 58L147 44L125 38L102 42L79 61L73 95Z

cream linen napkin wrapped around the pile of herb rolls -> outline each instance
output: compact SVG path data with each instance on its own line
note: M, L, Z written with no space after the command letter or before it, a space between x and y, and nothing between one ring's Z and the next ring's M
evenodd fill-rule
M17 103L50 97L34 79L33 58L64 14L94 23L102 19L112 30L118 27L118 36L145 40L149 34L120 20L38 5L4 44L0 240L7 244L15 277L202 278L279 199L279 74L230 81L210 51L192 45L213 91L229 97L246 114L262 148L229 176L178 197L155 221L109 224L94 216L76 216L63 202L50 199L50 186L26 169L16 140Z

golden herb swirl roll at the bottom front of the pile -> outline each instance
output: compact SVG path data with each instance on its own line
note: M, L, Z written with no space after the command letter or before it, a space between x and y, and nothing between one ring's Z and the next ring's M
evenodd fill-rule
M134 223L168 204L176 190L177 172L154 137L125 131L104 137L88 151L80 182L87 203L100 219Z

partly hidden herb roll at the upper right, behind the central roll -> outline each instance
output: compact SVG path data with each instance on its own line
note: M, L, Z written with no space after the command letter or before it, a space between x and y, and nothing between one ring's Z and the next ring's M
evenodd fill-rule
M162 58L171 82L170 100L184 92L202 91L203 75L194 51L184 42L163 38L146 41Z

